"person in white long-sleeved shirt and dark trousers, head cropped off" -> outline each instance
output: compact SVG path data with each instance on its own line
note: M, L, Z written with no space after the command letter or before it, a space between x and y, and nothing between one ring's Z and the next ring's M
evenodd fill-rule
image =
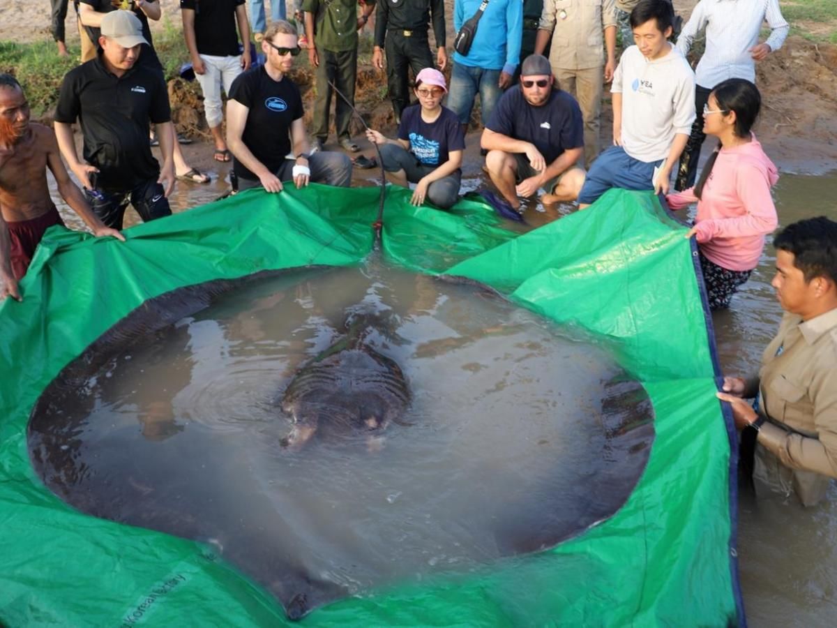
M765 20L771 32L768 39L759 44L758 35ZM712 88L727 79L745 79L755 83L756 61L780 49L790 27L782 17L778 0L701 0L677 39L677 48L684 57L702 28L706 28L706 51L695 70L697 117L691 127L686 150L680 155L675 181L677 190L685 190L695 184L697 162L706 139L703 107Z

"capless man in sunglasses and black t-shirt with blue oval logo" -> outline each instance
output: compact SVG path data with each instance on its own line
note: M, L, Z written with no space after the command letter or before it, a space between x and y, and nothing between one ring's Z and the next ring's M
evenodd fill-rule
M347 188L352 183L347 155L311 154L300 90L287 76L300 54L296 29L284 20L271 23L261 47L264 65L239 75L227 102L227 145L239 190L261 185L281 192L282 181L289 180L296 188L310 182ZM294 159L286 158L289 153Z

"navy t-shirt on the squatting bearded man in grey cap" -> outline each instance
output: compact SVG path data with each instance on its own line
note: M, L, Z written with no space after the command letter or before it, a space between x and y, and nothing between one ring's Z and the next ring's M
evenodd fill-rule
M531 142L547 160L554 162L568 148L584 146L584 122L573 96L552 88L542 106L531 106L519 85L506 90L491 114L487 128L496 133Z

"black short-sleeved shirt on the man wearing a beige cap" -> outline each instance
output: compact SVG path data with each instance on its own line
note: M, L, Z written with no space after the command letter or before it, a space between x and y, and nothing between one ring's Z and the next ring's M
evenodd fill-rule
M172 119L160 72L134 65L116 77L100 52L64 75L55 121L73 124L76 118L85 137L85 162L100 171L99 188L125 192L160 175L148 142L149 122Z

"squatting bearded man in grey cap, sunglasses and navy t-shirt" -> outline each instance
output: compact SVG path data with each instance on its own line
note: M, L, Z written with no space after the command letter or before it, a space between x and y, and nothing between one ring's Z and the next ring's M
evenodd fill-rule
M506 91L485 131L485 167L503 199L486 195L503 210L519 211L518 197L546 190L543 203L571 202L584 183L578 160L584 152L581 109L554 85L549 60L531 54L521 66L520 89ZM491 202L490 201L490 202Z

